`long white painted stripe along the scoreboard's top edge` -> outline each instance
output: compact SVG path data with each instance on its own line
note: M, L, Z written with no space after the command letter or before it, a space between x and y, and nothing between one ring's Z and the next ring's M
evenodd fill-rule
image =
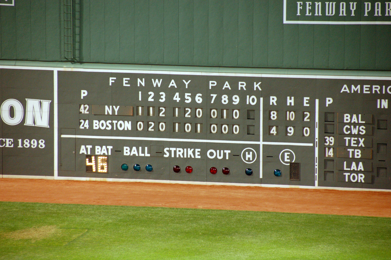
M35 67L35 66L9 66L0 65L6 69L24 70L58 70L78 72L109 72L109 73L143 73L163 75L217 75L217 76L238 76L238 77L280 77L280 78L303 78L303 79L361 79L361 80L391 80L388 76L341 76L341 75L301 75L301 74L262 74L262 73L230 73L230 72L183 72L169 70L121 70L121 69L88 69L88 68L59 68L59 67Z

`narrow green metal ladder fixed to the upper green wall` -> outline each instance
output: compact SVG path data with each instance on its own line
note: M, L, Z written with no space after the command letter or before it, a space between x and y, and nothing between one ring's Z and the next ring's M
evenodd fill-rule
M72 0L64 0L64 56L73 59Z

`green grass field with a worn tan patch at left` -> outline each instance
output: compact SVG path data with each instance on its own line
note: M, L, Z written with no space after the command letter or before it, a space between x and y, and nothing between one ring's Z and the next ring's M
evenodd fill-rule
M0 202L0 259L391 259L391 218Z

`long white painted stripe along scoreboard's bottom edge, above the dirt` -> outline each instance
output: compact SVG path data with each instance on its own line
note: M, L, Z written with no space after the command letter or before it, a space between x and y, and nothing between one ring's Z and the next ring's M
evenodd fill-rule
M54 179L53 176L30 176L30 175L3 175L8 179ZM224 185L224 186L244 186L244 187L265 187L265 188L301 188L301 189L319 189L319 190L351 190L351 191L380 191L391 192L385 189L368 188L341 188L341 187L315 187L301 185L274 185L274 184L254 184L254 183L225 183L225 182L207 182L207 181L169 181L153 179L115 179L115 178L88 178L88 177L64 177L59 176L57 180L70 181L115 181L115 182L143 182L143 183L167 183L167 184L192 184L192 185Z

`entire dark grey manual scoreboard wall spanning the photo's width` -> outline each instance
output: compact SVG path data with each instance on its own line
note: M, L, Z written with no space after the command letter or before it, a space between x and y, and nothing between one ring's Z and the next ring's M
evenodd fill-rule
M391 77L11 68L5 177L391 190ZM7 157L25 140L50 174Z

